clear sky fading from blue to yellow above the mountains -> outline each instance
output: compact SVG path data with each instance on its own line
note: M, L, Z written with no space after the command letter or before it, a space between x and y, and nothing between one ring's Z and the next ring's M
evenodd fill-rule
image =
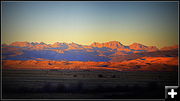
M178 44L178 2L2 2L2 43Z

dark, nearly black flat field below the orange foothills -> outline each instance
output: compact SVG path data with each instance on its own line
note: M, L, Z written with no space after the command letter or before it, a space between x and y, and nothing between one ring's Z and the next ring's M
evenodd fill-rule
M3 99L164 99L177 72L3 69Z

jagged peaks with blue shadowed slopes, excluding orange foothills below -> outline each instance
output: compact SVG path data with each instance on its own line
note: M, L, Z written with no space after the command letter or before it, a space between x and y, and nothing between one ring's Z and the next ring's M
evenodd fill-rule
M3 60L67 60L67 61L124 61L140 57L177 57L178 46L158 49L133 43L125 46L118 41L94 42L91 45L76 43L45 44L43 42L13 42L2 45Z

